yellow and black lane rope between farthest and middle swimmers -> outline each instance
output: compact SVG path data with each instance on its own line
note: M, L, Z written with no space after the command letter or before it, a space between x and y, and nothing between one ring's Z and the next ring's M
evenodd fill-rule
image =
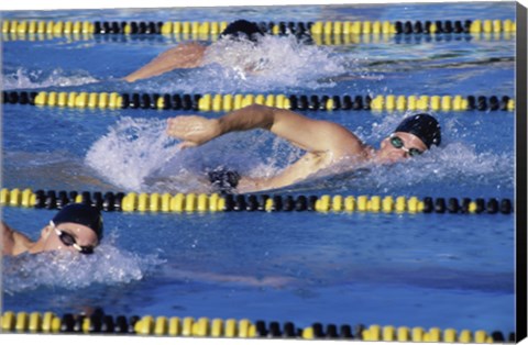
M514 111L509 96L319 96L319 94L169 94L64 91L3 91L3 103L76 109L153 109L228 112L250 104L290 110L334 111Z

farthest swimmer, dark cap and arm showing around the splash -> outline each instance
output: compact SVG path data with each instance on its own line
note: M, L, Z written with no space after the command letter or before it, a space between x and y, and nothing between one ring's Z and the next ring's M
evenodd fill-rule
M221 40L248 40L253 43L257 43L261 36L264 36L264 32L255 23L244 20L232 22L220 34ZM197 42L180 44L160 54L147 65L124 77L124 80L132 82L160 76L176 68L200 67L204 64L207 49L208 46Z

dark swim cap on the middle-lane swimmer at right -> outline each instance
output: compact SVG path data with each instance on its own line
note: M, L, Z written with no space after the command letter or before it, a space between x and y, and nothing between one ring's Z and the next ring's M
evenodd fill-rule
M394 132L414 134L426 144L427 148L431 148L431 145L438 146L442 141L437 119L425 113L404 119Z

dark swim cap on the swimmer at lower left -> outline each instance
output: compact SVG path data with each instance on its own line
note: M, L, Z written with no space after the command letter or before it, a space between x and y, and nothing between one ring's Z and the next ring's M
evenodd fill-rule
M53 223L77 223L94 230L97 238L102 238L102 216L97 208L84 203L72 203L64 207L53 219Z

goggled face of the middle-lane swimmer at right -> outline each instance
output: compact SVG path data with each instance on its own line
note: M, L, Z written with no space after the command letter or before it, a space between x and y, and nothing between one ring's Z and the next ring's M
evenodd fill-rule
M418 136L406 132L395 132L382 141L377 158L381 163L395 163L420 155L426 151L426 144Z

